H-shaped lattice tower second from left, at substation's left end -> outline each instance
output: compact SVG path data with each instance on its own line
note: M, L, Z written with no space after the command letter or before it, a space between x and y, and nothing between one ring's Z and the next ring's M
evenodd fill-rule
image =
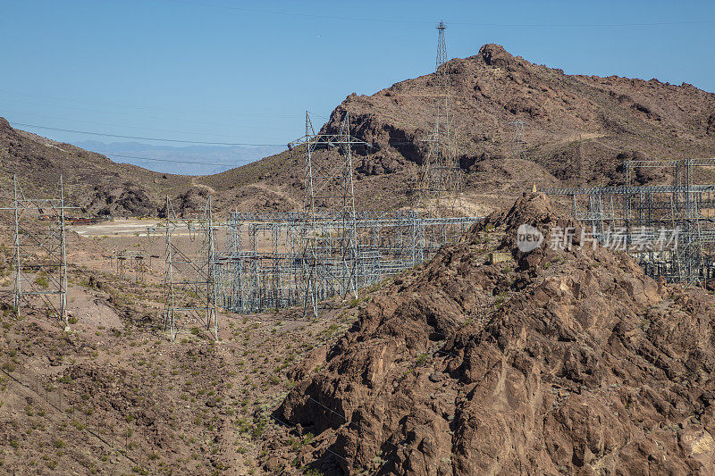
M218 301L215 271L216 251L211 196L196 220L180 217L169 197L166 197L166 252L164 266L164 330L172 341L176 334L195 322L218 340ZM185 232L190 242L197 246L181 246L176 237ZM198 328L197 328L198 329Z

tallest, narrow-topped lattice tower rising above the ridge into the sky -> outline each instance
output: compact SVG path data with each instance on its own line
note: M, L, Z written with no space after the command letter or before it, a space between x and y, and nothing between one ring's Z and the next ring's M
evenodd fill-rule
M445 29L447 26L440 21L437 25L437 62L433 79L433 125L423 139L427 145L427 154L416 180L416 207L424 207L428 214L440 214L442 208L454 209L462 190L457 137L452 127ZM433 210L431 202L434 202Z

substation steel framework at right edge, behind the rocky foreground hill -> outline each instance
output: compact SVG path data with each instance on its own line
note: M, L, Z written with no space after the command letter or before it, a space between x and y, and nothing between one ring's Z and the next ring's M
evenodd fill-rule
M694 181L700 167L713 166L715 159L626 161L625 186L541 191L571 196L574 218L601 242L624 230L628 253L649 275L702 285L715 277L715 184ZM658 169L668 171L672 183L636 185L639 176ZM644 246L663 239L670 242L665 249Z

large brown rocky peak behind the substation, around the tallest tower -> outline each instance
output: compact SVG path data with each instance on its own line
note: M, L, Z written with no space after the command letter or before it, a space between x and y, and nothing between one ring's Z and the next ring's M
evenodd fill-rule
M466 198L479 205L475 210L508 205L534 181L618 184L628 158L715 156L715 95L688 84L568 75L498 45L485 45L479 54L453 59L446 67L459 162L467 171ZM433 74L372 96L352 94L325 124L324 132L336 132L349 112L352 133L374 144L355 161L356 194L366 208L408 202L407 180L425 157L430 95ZM526 122L527 160L512 156L509 122L516 120ZM299 183L301 164L286 158L276 155L205 180L214 188L231 187L232 180L244 183L247 177L271 185L278 174L283 185Z

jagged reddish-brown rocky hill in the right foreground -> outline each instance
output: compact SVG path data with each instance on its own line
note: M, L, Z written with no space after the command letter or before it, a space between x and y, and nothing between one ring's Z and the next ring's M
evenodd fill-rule
M522 223L545 235L526 254ZM711 296L582 248L578 232L551 249L566 226L579 224L525 195L367 297L292 373L276 418L315 435L295 461L325 474L715 472ZM507 261L486 264L494 249Z

